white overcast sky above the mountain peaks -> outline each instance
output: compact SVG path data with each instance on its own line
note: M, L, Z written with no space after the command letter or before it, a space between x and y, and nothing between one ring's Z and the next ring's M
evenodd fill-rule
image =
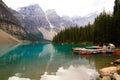
M55 9L60 15L86 16L93 12L112 12L114 0L3 0L8 7L17 10L20 7L39 4L44 10Z

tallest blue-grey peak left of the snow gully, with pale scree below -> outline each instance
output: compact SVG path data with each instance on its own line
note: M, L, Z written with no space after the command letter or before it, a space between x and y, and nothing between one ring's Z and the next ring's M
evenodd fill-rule
M52 24L48 19L47 14L39 7L38 4L19 8L18 12L14 10L11 10L11 12L20 20L24 28L30 34L37 36L39 40L52 40L55 35L54 33L59 31L56 26L53 28L54 24ZM52 32L46 34L44 31L41 31L40 28L44 28L46 33L49 31ZM51 35L53 35L52 38L49 37Z

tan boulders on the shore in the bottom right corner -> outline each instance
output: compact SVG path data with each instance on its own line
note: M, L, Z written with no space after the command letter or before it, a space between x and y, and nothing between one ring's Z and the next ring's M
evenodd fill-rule
M98 72L100 77L96 80L120 80L120 59L111 62L114 66L100 69Z

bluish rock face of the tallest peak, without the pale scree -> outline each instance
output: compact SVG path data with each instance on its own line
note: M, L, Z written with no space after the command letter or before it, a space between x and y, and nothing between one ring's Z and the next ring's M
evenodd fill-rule
M22 7L18 11L11 9L11 12L17 17L22 26L32 37L35 38L35 40L44 40L44 36L39 28L43 27L49 29L50 25L45 17L44 11L39 5L35 4Z

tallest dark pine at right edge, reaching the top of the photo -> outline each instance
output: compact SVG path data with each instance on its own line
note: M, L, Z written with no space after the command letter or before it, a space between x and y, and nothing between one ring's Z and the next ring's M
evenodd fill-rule
M112 27L112 41L116 45L120 45L120 0L115 0L115 6L113 11L113 27Z

